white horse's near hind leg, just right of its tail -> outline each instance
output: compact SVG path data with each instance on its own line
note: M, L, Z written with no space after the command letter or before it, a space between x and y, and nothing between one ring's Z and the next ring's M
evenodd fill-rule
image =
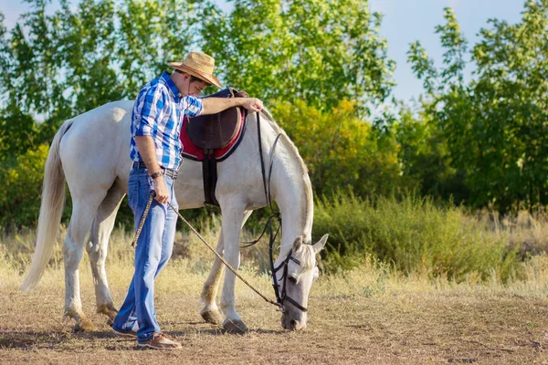
M73 200L72 217L63 242L65 263L65 316L74 318L76 331L91 331L93 323L84 314L79 288L79 263L84 251L84 243L90 231L93 216L97 212L102 196L87 196L86 200Z

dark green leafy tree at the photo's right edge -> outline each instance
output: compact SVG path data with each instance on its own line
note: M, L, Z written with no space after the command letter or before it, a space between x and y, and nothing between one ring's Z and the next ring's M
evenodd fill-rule
M425 82L425 113L463 176L468 203L492 203L501 212L548 203L548 2L528 1L516 25L490 20L471 54L450 9L446 19L437 26L444 68L435 68L418 42L409 60ZM477 66L468 82L467 56Z

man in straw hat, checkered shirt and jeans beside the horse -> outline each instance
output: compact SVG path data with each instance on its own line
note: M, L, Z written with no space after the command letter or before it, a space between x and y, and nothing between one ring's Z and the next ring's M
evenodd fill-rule
M183 117L215 114L241 106L260 111L255 98L197 99L207 86L221 85L213 76L215 60L201 52L191 52L183 62L168 64L173 74L163 72L146 84L133 106L130 157L133 165L128 197L140 224L150 193L156 193L142 226L135 249L135 272L127 297L114 319L112 329L119 337L136 338L143 348L180 349L182 345L165 335L156 321L154 279L172 255L177 215L174 178L181 163L179 133ZM182 177L184 178L184 176Z

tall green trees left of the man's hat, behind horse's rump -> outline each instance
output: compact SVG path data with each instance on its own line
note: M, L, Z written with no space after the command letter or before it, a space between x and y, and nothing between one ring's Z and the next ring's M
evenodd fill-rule
M134 99L196 35L193 5L184 0L81 0L74 8L59 0L53 13L48 0L27 3L31 10L9 33L0 13L0 195L7 199L0 222L16 226L37 217L43 144L60 123Z

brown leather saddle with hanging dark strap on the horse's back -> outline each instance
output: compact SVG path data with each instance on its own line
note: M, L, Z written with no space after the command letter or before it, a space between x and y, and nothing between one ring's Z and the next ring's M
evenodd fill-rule
M245 91L236 89L222 89L215 94L207 95L205 98L248 98ZM242 124L246 120L247 110L239 107L223 110L220 113L203 115L189 118L184 127L184 132L195 147L204 153L202 160L202 174L204 179L205 203L219 205L215 197L217 169L216 152L223 151L231 143L234 143L237 134L242 130ZM240 133L240 139L242 134ZM236 146L234 146L234 149ZM225 153L222 159L225 160L232 149Z

